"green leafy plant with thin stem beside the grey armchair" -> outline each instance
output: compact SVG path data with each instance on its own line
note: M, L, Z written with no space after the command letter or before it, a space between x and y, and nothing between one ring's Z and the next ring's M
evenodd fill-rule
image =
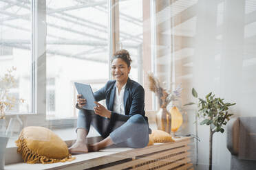
M192 88L193 97L198 99L198 118L202 119L200 125L209 125L209 170L212 169L213 160L213 134L216 132L224 132L224 125L228 123L230 117L233 115L228 113L228 107L235 105L235 103L224 103L224 99L215 97L213 93L206 95L205 99L199 98L195 88ZM192 105L193 102L186 104Z

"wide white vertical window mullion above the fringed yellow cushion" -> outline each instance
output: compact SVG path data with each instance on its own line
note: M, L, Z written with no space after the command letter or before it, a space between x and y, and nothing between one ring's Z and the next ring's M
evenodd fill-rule
M46 0L32 2L32 99L28 125L45 125L46 114Z

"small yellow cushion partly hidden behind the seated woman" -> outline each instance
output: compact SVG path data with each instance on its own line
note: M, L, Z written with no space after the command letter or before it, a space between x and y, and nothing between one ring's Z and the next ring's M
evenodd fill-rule
M171 134L164 132L162 130L152 130L152 133L149 134L149 141L153 143L169 143L174 142Z

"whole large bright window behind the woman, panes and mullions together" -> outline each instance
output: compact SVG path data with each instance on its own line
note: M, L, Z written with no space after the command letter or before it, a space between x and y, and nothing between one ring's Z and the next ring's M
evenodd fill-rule
M74 82L92 84L94 90L102 87L111 77L109 61L114 51L109 49L117 45L131 53L134 62L130 77L143 84L143 1L118 1L119 5L109 8L111 2L0 3L0 71L17 65L19 86L12 89L12 94L26 102L25 106L17 106L13 114L36 113L25 116L28 125L39 121L45 125L48 120L54 125L53 119L76 118ZM120 29L115 31L109 24L115 20L109 15L114 7L118 8L116 16L120 21ZM109 38L111 32L120 34L117 44Z

